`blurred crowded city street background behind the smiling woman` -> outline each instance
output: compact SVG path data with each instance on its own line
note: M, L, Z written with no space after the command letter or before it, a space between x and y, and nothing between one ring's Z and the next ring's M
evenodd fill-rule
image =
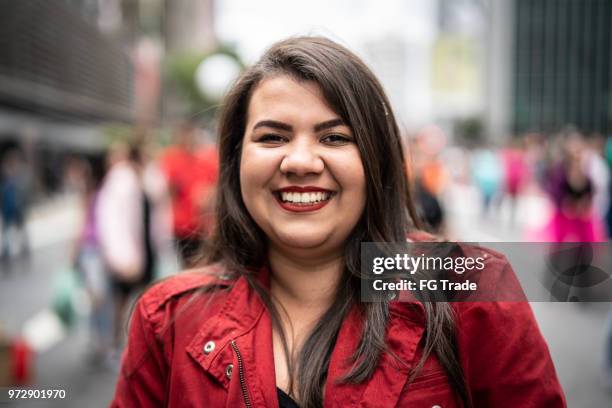
M325 37L371 69L424 230L485 245L609 248L609 1L2 2L0 389L62 389L66 399L0 398L0 408L108 405L133 300L196 265L225 225L217 199L229 187L218 181L235 162L219 150L242 154L245 139L229 135L232 150L219 140L234 123L246 128L255 88L284 71L253 83L236 112L246 117L224 132L226 94L283 39ZM380 113L378 99L357 99ZM362 164L387 159L364 155L355 130L347 146L359 147ZM333 167L323 170L342 181ZM568 406L612 406L612 303L532 308Z

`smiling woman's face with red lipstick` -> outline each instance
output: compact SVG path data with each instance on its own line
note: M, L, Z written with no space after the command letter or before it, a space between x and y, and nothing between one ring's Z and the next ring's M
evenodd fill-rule
M351 128L316 83L281 75L255 88L240 186L277 249L342 250L365 207L363 163Z

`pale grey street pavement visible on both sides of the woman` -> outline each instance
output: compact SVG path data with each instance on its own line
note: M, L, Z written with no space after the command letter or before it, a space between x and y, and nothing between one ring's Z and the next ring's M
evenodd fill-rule
M478 242L522 240L525 217L513 224L503 206L499 212L483 217L477 192L469 187L451 190L447 196L447 202L453 203L447 214L448 232L454 238ZM0 322L8 334L22 333L26 322L49 307L54 277L70 259L71 242L78 229L76 208L74 200L64 198L37 209L28 224L33 245L30 259L16 261L9 270L3 267ZM530 212L526 218L537 222L542 218L537 213L545 205L537 197L529 197L522 200L519 208L521 213ZM604 327L610 305L542 302L532 303L532 308L548 341L568 406L612 406L612 394L606 393L600 384ZM65 389L66 400L26 401L0 407L107 406L114 390L118 361L96 367L90 364L88 352L87 324L81 318L73 330L35 357L34 387Z

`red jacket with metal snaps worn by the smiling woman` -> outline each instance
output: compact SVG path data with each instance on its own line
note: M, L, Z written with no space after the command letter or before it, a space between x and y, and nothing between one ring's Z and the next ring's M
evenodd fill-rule
M494 259L488 267L505 262ZM182 273L142 296L112 407L278 407L270 315L244 278L223 280L219 272ZM218 289L196 290L210 284ZM453 307L459 356L475 407L566 406L528 303ZM435 355L412 383L410 370L398 367L388 354L369 381L338 383L360 333L354 310L333 350L325 407L462 406ZM416 364L423 334L422 306L391 302L388 347Z

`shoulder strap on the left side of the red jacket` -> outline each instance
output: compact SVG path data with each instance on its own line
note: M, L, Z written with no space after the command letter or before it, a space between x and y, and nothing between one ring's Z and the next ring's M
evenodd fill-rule
M233 285L225 269L208 265L181 271L151 286L140 299L144 311L150 316L162 309L168 302L201 288L223 289Z

